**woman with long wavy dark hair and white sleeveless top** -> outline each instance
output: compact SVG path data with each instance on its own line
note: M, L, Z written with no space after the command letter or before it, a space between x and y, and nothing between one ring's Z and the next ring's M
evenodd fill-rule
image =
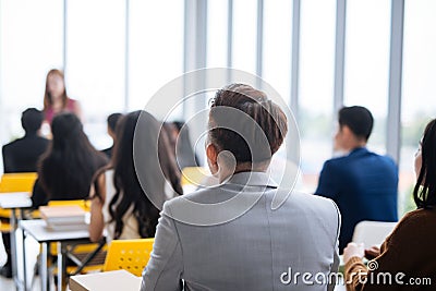
M145 111L131 112L118 123L111 165L93 183L92 241L98 241L105 228L108 241L154 237L159 218L155 198L162 202L173 191L182 194L168 137L160 133L160 123ZM145 170L138 171L137 163Z

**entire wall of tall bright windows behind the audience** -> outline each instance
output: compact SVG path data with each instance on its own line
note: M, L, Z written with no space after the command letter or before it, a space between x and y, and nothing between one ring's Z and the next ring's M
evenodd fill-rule
M206 56L206 66L230 64L251 74L261 72L288 102L291 90L298 93L303 184L307 192L313 192L323 162L334 154L338 1L300 1L298 88L291 88L291 65L295 61L292 60L294 1L223 0L207 4L202 1L205 0L0 1L2 143L23 133L20 116L24 109L43 108L45 78L52 68L65 70L66 88L82 105L85 130L93 144L102 148L111 143L106 134L109 113L143 109L161 86L186 68L203 65ZM385 154L387 130L396 130L386 129L393 1L346 2L344 56L338 56L338 59L344 57L343 104L362 105L373 112L375 129L370 148ZM194 10L205 4L207 16L197 15ZM432 29L436 25L435 13L434 0L405 1L399 165L403 209L409 207L403 205L414 182L412 163L416 143L423 126L436 112L433 81L436 32ZM204 32L206 35L202 35ZM184 44L186 39L206 43L196 46L194 52L193 44ZM184 51L185 48L190 50ZM222 80L258 85L255 80L227 77ZM161 102L183 97L184 85ZM211 96L209 93L206 100ZM157 111L153 113L158 118L168 113ZM179 106L170 119L189 118L186 110L184 113L186 117L183 106Z

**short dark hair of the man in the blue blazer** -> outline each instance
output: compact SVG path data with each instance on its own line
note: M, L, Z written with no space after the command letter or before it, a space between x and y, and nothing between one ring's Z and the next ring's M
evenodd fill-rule
M370 138L373 124L373 114L365 107L351 106L339 110L339 126L347 125L360 138Z

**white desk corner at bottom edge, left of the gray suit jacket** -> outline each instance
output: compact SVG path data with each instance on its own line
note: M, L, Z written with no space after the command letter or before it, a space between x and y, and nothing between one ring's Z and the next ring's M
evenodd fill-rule
M126 270L112 270L72 276L70 289L71 291L137 291L141 288L141 277L136 277Z

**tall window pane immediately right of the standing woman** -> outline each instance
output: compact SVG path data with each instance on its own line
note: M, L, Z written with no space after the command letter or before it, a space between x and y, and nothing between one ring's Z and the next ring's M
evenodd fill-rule
M124 107L125 1L74 0L66 8L66 89L82 105L92 142L104 148L111 143L106 117Z

